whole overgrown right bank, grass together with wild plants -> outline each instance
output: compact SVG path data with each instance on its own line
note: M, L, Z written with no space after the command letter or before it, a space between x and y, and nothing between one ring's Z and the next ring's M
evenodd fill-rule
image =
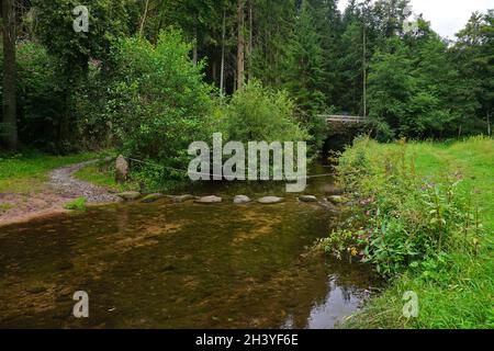
M362 150L364 147L364 150ZM357 151L359 149L359 151ZM385 250L394 253L396 244L411 242L417 246L420 241L427 239L427 235L436 231L440 220L435 222L437 217L436 208L440 205L442 208L441 217L446 220L444 229L448 229L448 235L444 236L441 248L436 246L430 248L429 253L424 260L415 261L412 257L408 269L398 274L390 282L386 290L372 298L363 310L353 316L346 322L345 327L370 328L370 329L396 329L396 328L420 328L420 329L463 329L463 328L485 328L494 327L494 309L492 308L492 292L494 281L492 272L494 261L492 260L492 233L494 233L494 206L492 169L494 167L494 140L486 137L472 137L464 140L447 143L409 143L405 147L402 143L378 144L359 141L357 149L349 149L344 159L346 159L346 169L349 163L356 161L358 154L367 155L367 165L359 168L373 173L372 178L384 179L386 168L379 162L380 159L402 159L405 154L405 165L414 165L414 173L419 174L420 183L427 184L423 190L413 189L409 193L396 197L402 192L400 189L393 189L400 182L393 181L386 188L381 182L379 189L385 189L389 193L381 193L375 196L374 203L363 203L359 210L377 228L377 222L381 220L384 228L388 229L382 240L373 246L374 248L384 248L383 244L389 244ZM361 158L362 159L362 158ZM351 161L353 160L353 161ZM380 168L373 167L378 161ZM413 163L412 163L413 162ZM394 171L400 170L397 167ZM461 181L459 182L461 171ZM375 174L381 173L381 177ZM412 170L411 170L412 171ZM452 182L445 178L445 174L456 174ZM394 177L396 178L396 177ZM412 179L409 176L400 177L401 179ZM427 180L425 180L427 179ZM436 183L433 184L431 182ZM356 182L352 182L357 184ZM451 186L457 183L456 186ZM409 189L406 184L406 189ZM425 199L436 199L436 192L439 201L424 201ZM449 193L451 195L449 195ZM461 193L471 193L472 196L461 199ZM446 196L445 196L446 195ZM389 197L389 199L386 199ZM449 197L449 199L448 199ZM414 200L415 199L415 200ZM424 199L424 200L423 200ZM472 203L469 204L469 199ZM405 208L400 202L411 206ZM429 204L428 204L429 203ZM385 206L393 204L396 211L378 215L377 212L366 214L367 208ZM473 216L468 217L465 213L456 213L459 208L473 208ZM429 213L431 212L431 213ZM413 215L411 217L409 215ZM388 217L388 218L386 218ZM429 220L427 220L429 219ZM459 228L463 223L464 227ZM393 224L393 226L391 226ZM397 226L396 224L400 224ZM408 224L417 224L424 228L424 234L411 228ZM369 228L370 226L364 226ZM397 230L400 229L401 230ZM402 231L407 228L409 236ZM400 235L402 233L402 235ZM450 236L458 241L450 240ZM393 239L393 240L392 240ZM433 237L433 245L437 242ZM391 245L390 245L391 244ZM397 262L405 262L403 252L396 253ZM374 257L380 259L383 256ZM393 257L388 261L393 262ZM375 262L375 261L374 261ZM382 263L383 265L388 263ZM401 263L403 264L403 263ZM406 318L403 314L404 293L415 292L418 296L419 313L417 318Z

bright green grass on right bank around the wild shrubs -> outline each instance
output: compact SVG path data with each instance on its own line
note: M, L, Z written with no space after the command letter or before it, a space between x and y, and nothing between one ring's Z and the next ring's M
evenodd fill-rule
M370 143L371 154L381 157L396 145ZM416 171L429 178L460 171L462 186L476 193L485 237L478 256L448 252L449 264L433 267L435 279L408 271L349 319L348 328L494 328L494 140L471 138L451 144L414 143ZM418 295L417 318L403 317L403 294Z

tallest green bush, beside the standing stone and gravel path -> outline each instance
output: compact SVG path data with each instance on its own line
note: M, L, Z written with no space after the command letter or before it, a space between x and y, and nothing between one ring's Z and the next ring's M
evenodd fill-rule
M141 171L149 188L183 177L176 169L187 170L190 143L212 137L212 88L191 49L171 29L156 45L132 37L113 48L108 115L123 152L147 162Z

